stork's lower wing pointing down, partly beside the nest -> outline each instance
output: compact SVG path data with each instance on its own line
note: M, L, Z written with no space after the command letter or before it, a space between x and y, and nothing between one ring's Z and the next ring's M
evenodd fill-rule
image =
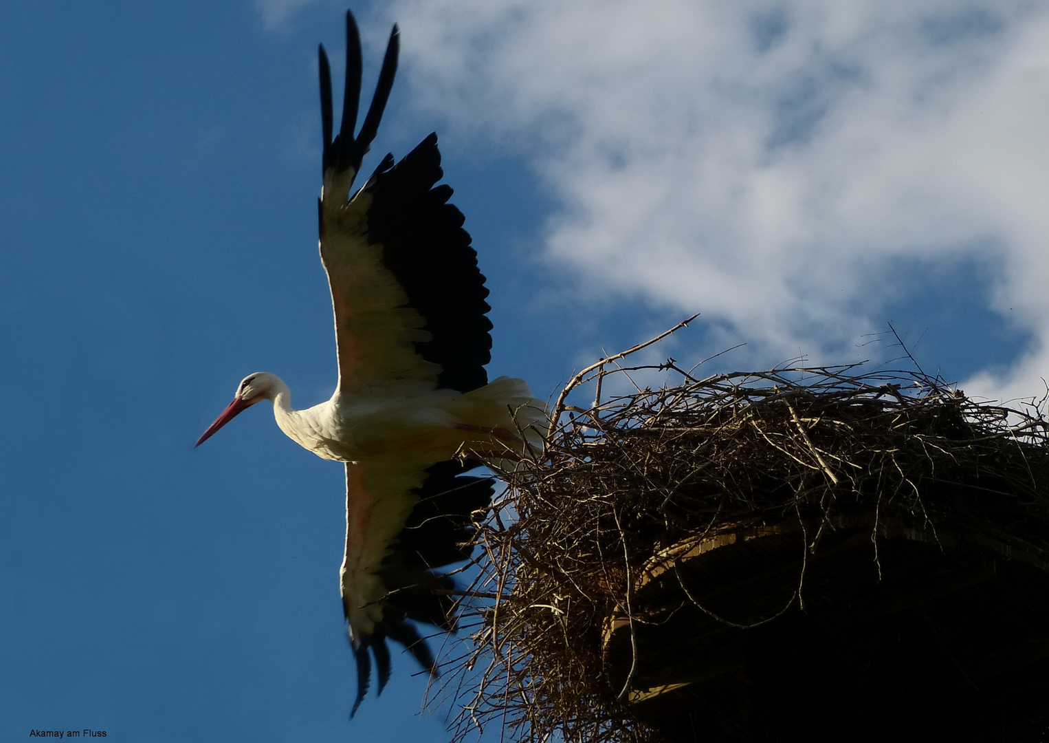
M450 461L424 468L392 459L346 464L346 551L340 582L357 659L350 716L368 688L369 650L380 693L389 679L387 638L436 675L426 641L406 620L454 630L454 582L433 570L470 556L471 514L485 508L493 492L490 477L465 474L477 465Z

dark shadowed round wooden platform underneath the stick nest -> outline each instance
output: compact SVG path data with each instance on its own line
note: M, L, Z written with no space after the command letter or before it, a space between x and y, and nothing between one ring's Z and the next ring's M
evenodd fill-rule
M874 521L814 554L796 521L661 550L605 625L612 686L678 741L1036 740L1049 555Z

